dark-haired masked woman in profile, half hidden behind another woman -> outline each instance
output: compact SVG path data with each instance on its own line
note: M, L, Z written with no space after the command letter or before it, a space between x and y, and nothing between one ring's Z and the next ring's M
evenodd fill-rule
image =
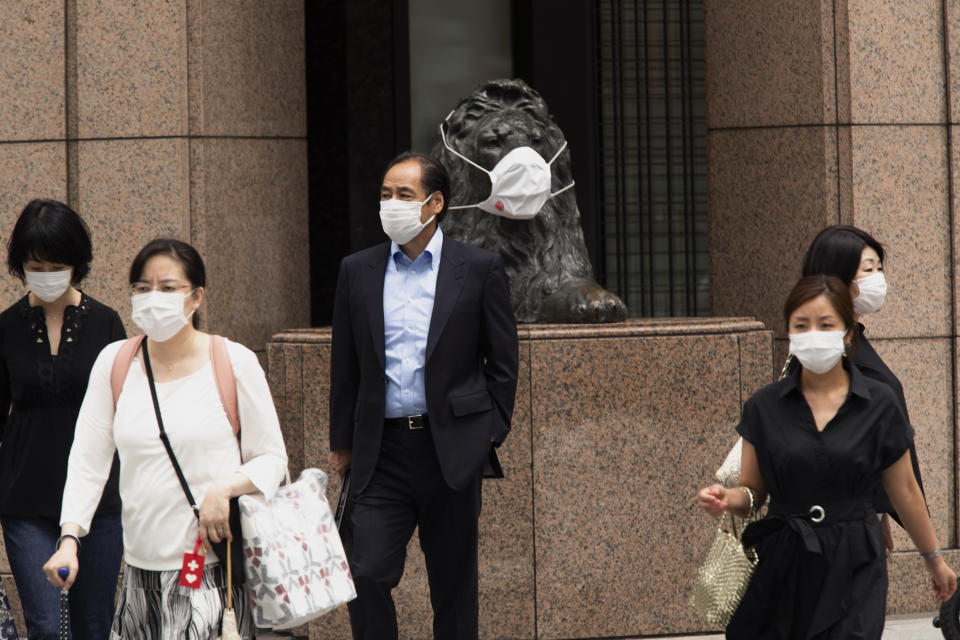
M859 322L861 316L876 313L883 306L887 294L887 281L883 273L884 258L883 245L863 229L850 225L833 225L823 229L813 239L803 261L803 275L834 276L850 287L858 329L857 349L851 357L863 375L889 385L909 424L910 414L907 412L903 385L867 340L864 335L864 326ZM920 463L917 459L917 449L912 443L910 463L922 492ZM887 514L898 521L899 517L893 505L890 504L890 499L884 493L883 487L878 487L874 503L877 511L883 513L881 524L884 538L887 548L893 551L893 537L890 535L890 521Z

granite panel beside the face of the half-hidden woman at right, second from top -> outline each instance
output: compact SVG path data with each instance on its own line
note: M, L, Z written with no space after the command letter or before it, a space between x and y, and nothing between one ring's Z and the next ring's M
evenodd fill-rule
M878 337L947 336L951 325L946 131L854 127L853 221L886 248Z

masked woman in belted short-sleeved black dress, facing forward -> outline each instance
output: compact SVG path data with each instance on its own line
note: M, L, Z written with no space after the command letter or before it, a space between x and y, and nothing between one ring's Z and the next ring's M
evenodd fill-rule
M873 495L883 485L923 556L933 590L946 600L956 575L910 465L913 430L887 385L843 357L856 323L850 290L812 276L784 306L790 352L799 367L755 393L743 408L741 487L700 490L711 515L746 516L752 492L767 516L743 533L759 563L727 638L879 640L887 564Z

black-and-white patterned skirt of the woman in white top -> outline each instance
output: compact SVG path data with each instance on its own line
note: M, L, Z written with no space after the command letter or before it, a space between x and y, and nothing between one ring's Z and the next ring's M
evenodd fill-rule
M180 571L123 571L110 640L215 640L227 605L226 570L203 569L200 587L180 586ZM244 640L255 637L243 586L233 587L233 608Z

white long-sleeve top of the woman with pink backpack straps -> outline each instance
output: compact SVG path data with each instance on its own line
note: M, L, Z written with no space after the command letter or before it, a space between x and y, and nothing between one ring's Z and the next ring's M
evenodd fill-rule
M139 352L114 411L110 372L121 344L107 345L90 372L70 450L60 522L76 523L81 535L86 535L116 451L127 564L152 571L179 569L184 552L193 551L197 520L160 440ZM223 410L211 363L156 385L164 429L198 506L216 480L236 471L269 499L287 469L280 422L256 355L229 340L227 352L237 382L240 448ZM246 462L241 461L241 448Z

